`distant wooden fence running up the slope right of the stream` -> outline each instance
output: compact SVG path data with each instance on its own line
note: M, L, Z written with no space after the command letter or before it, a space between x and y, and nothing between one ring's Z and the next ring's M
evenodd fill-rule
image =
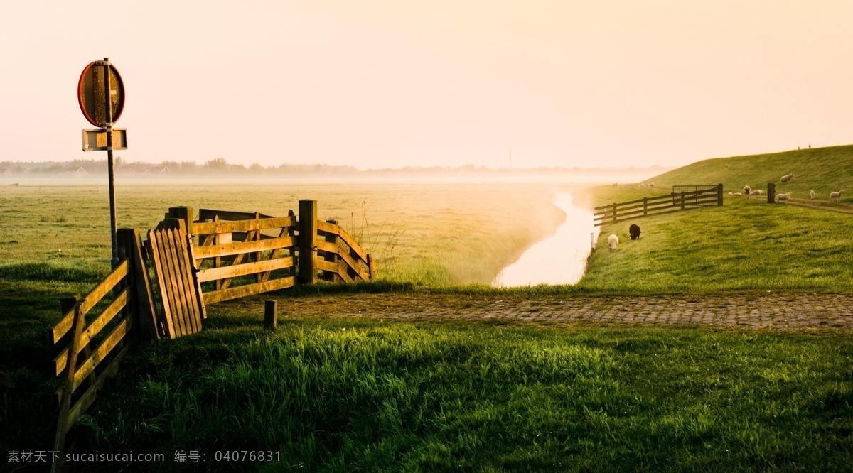
M595 207L593 221L595 226L599 227L606 223L624 222L632 218L717 205L722 205L722 184L699 188L692 192L671 193Z

